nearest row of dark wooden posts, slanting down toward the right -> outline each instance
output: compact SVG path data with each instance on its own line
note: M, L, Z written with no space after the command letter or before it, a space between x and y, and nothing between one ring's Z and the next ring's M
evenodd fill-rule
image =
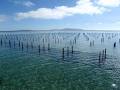
M3 40L2 40L2 39L1 39L1 41L0 41L0 45L1 45L1 46L3 45ZM8 42L9 48L12 48L12 45L13 45L13 47L15 48L15 47L16 47L16 42L14 41L13 44L12 44L12 42L9 40L9 42ZM21 48L21 50L23 51L24 48L25 48L25 45L24 45L23 42L20 42L20 41L19 41L19 42L18 42L18 47ZM28 51L28 48L29 48L29 47L31 47L31 48L33 49L33 48L34 48L33 43L31 43L31 45L29 45L28 43L26 44L26 49L27 49L27 51ZM67 47L67 50L66 50L66 51L65 51L65 48L62 48L62 58L63 58L63 59L65 58L65 52L67 53L67 56L69 56L70 53L73 54L73 52L74 52L73 49L74 49L73 46L71 46L71 49L70 49L69 47ZM44 45L43 45L42 50L45 51L45 46L44 46ZM49 43L48 43L47 50L50 50L50 44L49 44ZM40 54L40 52L41 52L41 46L40 46L40 45L38 45L38 52L39 52L39 54ZM106 60L106 48L105 48L102 52L99 52L99 64L104 63L105 60Z

